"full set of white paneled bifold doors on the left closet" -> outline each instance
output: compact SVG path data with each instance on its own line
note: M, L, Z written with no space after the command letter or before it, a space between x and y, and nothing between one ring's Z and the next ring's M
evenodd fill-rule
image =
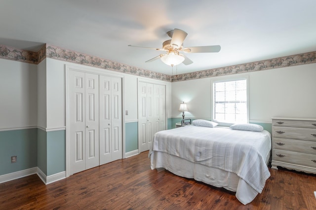
M122 80L68 71L69 174L122 154Z

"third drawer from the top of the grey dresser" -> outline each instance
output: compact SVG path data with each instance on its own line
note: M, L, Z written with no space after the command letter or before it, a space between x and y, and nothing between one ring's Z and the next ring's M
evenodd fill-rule
M316 141L272 138L272 148L316 154Z

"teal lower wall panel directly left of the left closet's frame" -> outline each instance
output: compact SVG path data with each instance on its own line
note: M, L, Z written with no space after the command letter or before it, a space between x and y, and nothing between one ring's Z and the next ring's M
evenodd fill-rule
M66 171L66 131L49 131L47 138L46 176Z

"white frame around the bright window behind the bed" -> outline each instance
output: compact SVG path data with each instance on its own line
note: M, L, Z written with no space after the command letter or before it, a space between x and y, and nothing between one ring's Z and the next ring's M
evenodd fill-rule
M249 75L243 75L243 76L233 76L233 77L226 77L226 78L213 78L211 79L211 115L212 115L212 121L217 122L219 126L231 126L232 124L235 124L236 122L221 122L214 119L215 116L215 109L214 109L214 83L220 83L220 82L231 82L231 81L237 81L237 80L246 80L246 87L247 87L247 120L246 123L249 123Z

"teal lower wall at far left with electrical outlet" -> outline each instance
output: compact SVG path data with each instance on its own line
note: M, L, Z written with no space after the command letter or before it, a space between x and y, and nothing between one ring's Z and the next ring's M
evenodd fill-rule
M0 132L0 175L37 166L37 128ZM17 162L11 163L11 156Z

